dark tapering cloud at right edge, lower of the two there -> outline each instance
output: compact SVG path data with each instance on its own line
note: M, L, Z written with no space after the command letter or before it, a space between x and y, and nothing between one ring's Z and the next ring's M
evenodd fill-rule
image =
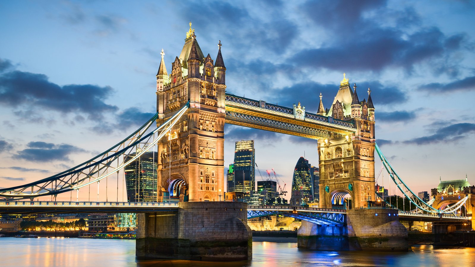
M456 142L467 138L468 134L475 133L475 124L472 123L459 123L452 124L446 127L439 128L435 131L435 134L414 138L404 141L407 144L433 144L441 142Z

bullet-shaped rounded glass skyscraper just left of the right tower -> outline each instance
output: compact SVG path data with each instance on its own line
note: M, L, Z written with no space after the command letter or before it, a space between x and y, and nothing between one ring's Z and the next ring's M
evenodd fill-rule
M297 164L295 164L290 204L299 205L312 201L312 186L312 176L310 175L308 161L304 157L300 157Z

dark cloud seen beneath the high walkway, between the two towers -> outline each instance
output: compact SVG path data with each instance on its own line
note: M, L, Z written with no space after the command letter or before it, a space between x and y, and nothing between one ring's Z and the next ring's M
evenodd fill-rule
M226 129L224 132L226 134L224 135L224 138L231 142L241 140L262 140L274 142L282 138L281 134L254 128L246 128L228 124L225 124L225 128Z

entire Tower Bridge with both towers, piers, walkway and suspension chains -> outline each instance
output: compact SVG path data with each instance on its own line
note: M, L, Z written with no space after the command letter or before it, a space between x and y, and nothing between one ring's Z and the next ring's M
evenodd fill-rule
M206 255L205 258L211 260L249 257L247 242L251 235L246 224L249 217L283 214L303 219L305 223L299 230L299 235L303 237L340 240L339 247L335 249L371 250L407 249L407 230L399 223L399 217L471 219L473 209L466 210L466 217L443 215L460 209L468 197L442 210L424 202L410 190L376 145L375 108L370 88L367 98L360 101L356 84L351 86L345 74L340 86L335 88L336 96L331 107L323 107L320 94L317 112L309 113L300 102L293 107L285 107L226 93L227 69L221 55L221 42L218 42L215 60L209 54L205 57L191 23L180 56L171 63L170 74L164 56L162 50L156 75L157 113L149 121L104 153L76 167L36 182L0 189L0 198L4 199L0 203L1 212L21 209L24 212L36 209L106 212L136 209L142 212L138 216L138 257L159 257L159 249L154 248L173 248L173 251L167 252L169 255L176 256L187 251L189 254L185 253L187 256L184 258ZM247 207L243 203L218 201L225 185L225 123L316 140L321 210ZM99 188L99 182L104 179L115 176L118 179L119 171L152 149L158 152L158 204L136 203L131 207L120 202L79 201L79 190L92 184L97 184ZM411 215L395 209L369 206L371 200L376 200L375 152L399 191L420 210L432 214ZM133 157L127 157L132 154ZM76 202L39 201L37 204L34 201L43 196L52 196L56 200L58 194L66 192L70 192L72 200L72 191L76 191ZM161 205L171 198L180 201L178 208L171 204ZM333 209L343 205L348 210ZM434 216L434 213L442 215ZM199 227L194 226L196 224ZM354 243L358 243L356 247L348 243L350 237L359 238ZM371 241L376 239L378 242ZM316 244L309 238L302 240L299 247ZM208 247L196 250L197 244L203 242ZM219 244L223 242L232 244L224 250L234 251L235 257L222 253L223 248ZM178 243L180 249L176 247ZM209 251L212 251L211 256L207 254Z

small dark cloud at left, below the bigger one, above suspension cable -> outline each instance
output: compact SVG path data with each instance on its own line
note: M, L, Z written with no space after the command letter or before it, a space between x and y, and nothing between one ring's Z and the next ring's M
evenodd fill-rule
M86 152L84 149L65 143L30 142L27 147L18 151L13 158L31 162L70 161L69 154Z

